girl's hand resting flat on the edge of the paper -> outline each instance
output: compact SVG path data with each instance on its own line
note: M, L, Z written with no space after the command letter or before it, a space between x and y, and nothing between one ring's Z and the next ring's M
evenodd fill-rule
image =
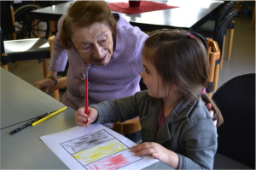
M167 150L160 144L154 142L144 142L131 147L131 151L135 152L135 156L154 156L154 158L165 162L173 168L178 167L178 156L172 150Z

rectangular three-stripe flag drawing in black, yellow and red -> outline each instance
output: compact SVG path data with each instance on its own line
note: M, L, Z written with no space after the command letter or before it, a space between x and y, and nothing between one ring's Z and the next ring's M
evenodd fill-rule
M63 142L61 146L85 169L118 169L143 159L132 156L125 144L104 129Z

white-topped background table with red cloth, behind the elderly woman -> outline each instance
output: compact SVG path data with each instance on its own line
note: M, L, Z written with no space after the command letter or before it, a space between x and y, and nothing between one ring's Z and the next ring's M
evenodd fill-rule
M128 0L107 0L107 3L128 2ZM216 14L218 7L223 1L198 1L198 0L168 0L153 1L156 3L166 3L179 8L170 8L157 10L142 14L123 14L132 26L139 26L142 31L153 31L162 28L181 28L189 31L195 31L213 14ZM70 3L61 3L46 8L33 10L32 18L38 20L59 20L62 14L67 14L67 8ZM113 11L115 12L115 11Z

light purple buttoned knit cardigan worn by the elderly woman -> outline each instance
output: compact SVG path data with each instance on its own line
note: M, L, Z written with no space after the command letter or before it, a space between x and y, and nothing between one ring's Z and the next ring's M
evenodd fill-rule
M64 71L67 65L67 91L61 102L77 110L84 106L84 77L88 74L89 102L97 104L108 99L119 99L135 94L140 90L140 73L143 71L142 48L148 35L138 27L131 26L119 14L116 47L108 65L84 65L75 49L66 50L59 37L65 15L58 22L58 30L49 61L50 71Z

